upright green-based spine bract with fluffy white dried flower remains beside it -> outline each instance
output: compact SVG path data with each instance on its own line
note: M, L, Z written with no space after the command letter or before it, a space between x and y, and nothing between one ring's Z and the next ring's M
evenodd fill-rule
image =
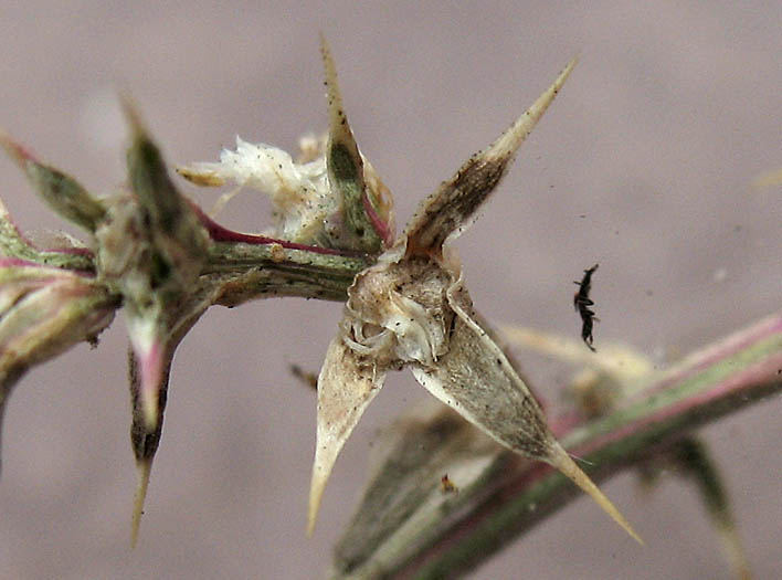
M359 152L342 108L337 71L326 42L329 131L326 143L303 144L303 157L271 145L236 138L236 150L223 150L218 164L178 169L199 186L235 183L271 197L275 226L268 235L320 247L377 254L393 242L393 200L372 166Z

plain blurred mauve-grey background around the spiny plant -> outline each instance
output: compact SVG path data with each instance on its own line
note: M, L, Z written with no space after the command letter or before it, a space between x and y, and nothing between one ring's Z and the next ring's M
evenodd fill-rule
M116 4L116 6L115 6ZM129 91L171 162L215 159L236 134L287 149L325 127L317 32L328 36L363 152L416 201L488 144L575 53L581 63L476 226L458 241L495 320L577 336L571 281L600 262L595 345L665 361L780 307L782 10L776 1L11 2L0 8L0 125L95 191L123 180ZM60 226L0 160L25 229ZM190 188L183 186L190 191ZM205 204L213 197L198 193ZM266 204L222 221L260 230ZM176 359L163 441L135 551L125 329L32 371L6 415L3 578L318 578L364 481L377 430L425 393L392 376L348 444L320 525L304 537L317 370L336 304L214 309ZM551 400L570 376L520 354ZM704 430L758 578L780 566L779 399ZM647 546L585 498L474 578L728 578L693 489L605 488Z

